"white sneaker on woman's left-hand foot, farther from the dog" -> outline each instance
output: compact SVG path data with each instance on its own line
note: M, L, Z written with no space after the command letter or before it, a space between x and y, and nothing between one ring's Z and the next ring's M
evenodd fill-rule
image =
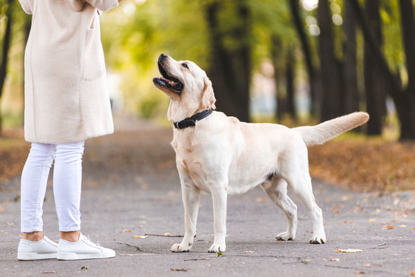
M42 260L55 259L57 256L57 244L44 236L42 240L30 241L20 239L17 248L17 258L19 260Z

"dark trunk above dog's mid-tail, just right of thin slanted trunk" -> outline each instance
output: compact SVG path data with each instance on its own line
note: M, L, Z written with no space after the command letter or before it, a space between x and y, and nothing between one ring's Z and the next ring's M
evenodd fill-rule
M334 41L328 0L319 1L317 18L320 27L319 54L322 78L320 115L321 120L324 121L342 114L340 74L338 62L334 55Z

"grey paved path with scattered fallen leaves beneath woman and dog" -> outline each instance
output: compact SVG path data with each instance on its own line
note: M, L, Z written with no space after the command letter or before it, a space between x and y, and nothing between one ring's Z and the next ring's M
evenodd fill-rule
M311 221L299 206L297 239L275 240L284 214L259 187L228 200L227 251L208 254L212 201L201 196L191 252L169 251L183 234L183 204L171 128L118 122L116 135L89 140L84 155L82 230L116 250L116 258L19 261L19 176L0 184L0 276L410 276L415 271L415 192L381 195L344 191L313 180L326 228L325 245L308 244ZM1 161L4 162L4 161ZM390 225L390 226L388 226ZM388 229L389 228L389 229ZM393 229L392 229L393 228ZM127 232L125 230L131 230ZM57 240L50 184L44 231ZM145 233L171 237L147 236ZM338 253L336 249L361 249ZM87 269L86 269L87 268ZM415 272L413 273L415 274Z

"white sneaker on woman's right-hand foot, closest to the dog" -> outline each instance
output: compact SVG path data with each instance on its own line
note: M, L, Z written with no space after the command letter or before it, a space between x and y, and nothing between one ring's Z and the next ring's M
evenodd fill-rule
M82 233L80 234L80 240L77 242L68 242L61 238L57 245L58 260L102 259L114 256L116 256L116 251L95 245Z

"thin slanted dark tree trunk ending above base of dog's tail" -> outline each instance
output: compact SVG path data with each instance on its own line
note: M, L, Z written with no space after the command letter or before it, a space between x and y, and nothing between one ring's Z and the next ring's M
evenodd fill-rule
M308 44L308 39L306 32L304 32L304 22L299 16L299 5L297 0L288 0L288 4L291 8L291 15L293 16L293 23L295 30L297 31L299 41L302 46L302 51L304 53L304 59L306 60L306 68L308 74L308 82L310 85L310 97L311 97L311 115L316 115L316 112L320 109L320 104L317 97L318 86L318 74L315 72L313 66L313 56L311 55L311 48Z

